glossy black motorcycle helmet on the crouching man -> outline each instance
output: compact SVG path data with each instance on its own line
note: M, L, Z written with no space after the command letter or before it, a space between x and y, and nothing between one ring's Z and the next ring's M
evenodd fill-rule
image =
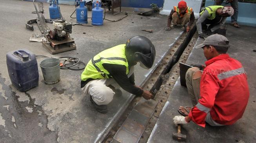
M126 42L125 56L129 64L140 62L142 68L149 69L153 66L156 50L148 38L134 36Z

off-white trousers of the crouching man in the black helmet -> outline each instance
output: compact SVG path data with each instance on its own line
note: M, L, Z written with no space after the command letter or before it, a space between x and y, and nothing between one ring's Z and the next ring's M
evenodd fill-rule
M134 66L130 68L130 72L127 75L130 77L134 72ZM82 88L83 93L90 95L93 98L93 101L97 105L107 105L109 104L114 97L114 91L108 86L111 85L114 88L120 88L116 80L113 78L110 79L95 79L89 81L84 88Z

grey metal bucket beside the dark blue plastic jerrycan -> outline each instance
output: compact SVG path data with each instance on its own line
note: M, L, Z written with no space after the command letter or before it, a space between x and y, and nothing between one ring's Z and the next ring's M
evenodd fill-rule
M40 63L45 84L56 84L60 81L60 60L44 59Z

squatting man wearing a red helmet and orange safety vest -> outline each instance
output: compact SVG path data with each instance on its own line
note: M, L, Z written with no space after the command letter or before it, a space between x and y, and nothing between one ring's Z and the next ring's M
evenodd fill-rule
M182 25L182 30L190 30L192 23L195 20L194 11L192 8L187 6L187 3L183 0L178 3L178 6L174 6L168 16L167 27L165 30L169 31L174 28L177 24ZM189 24L185 27L186 23Z

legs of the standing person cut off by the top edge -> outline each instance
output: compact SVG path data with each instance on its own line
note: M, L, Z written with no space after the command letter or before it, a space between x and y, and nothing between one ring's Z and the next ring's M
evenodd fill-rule
M214 0L214 5L222 5L224 0ZM231 7L234 9L234 14L231 16L231 23L232 26L236 28L241 28L240 25L237 23L238 17L238 0L225 0L226 4L231 4Z

